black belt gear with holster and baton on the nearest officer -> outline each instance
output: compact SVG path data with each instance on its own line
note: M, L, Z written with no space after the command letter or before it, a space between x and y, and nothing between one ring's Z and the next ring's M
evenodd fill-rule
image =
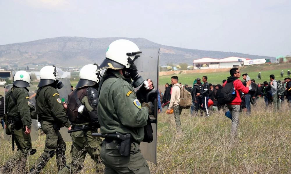
M102 137L105 138L104 141L107 143L112 142L113 140L116 140L118 143L117 151L122 156L129 156L130 155L130 149L131 149L131 143L132 143L132 135L127 133L125 135L116 132L115 134L101 134L101 133L92 133L93 137Z

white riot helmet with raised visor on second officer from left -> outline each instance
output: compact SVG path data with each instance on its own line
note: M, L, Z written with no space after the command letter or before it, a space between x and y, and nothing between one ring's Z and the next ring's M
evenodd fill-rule
M38 87L47 86L55 83L58 89L61 89L64 85L61 81L58 81L58 78L61 78L63 71L56 66L45 66L40 70L40 82Z

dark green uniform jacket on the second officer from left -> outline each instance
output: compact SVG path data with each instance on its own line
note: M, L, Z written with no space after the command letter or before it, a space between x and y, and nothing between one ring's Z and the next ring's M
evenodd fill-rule
M59 97L58 91L52 86L38 89L36 94L36 113L39 121L45 120L70 127L68 116Z

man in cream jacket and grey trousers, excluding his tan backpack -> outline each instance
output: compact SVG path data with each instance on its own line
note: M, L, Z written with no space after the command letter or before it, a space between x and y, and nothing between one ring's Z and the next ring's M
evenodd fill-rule
M171 84L173 85L173 88L172 88L170 105L166 113L169 114L171 111L171 108L174 108L177 132L180 132L181 131L180 115L182 112L182 108L180 107L181 91L179 87L180 84L178 84L178 80L179 80L178 76L171 77Z

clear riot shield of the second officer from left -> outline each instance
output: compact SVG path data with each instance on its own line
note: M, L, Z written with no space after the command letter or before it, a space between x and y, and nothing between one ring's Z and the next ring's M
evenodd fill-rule
M70 79L69 78L62 78L62 79L59 79L59 81L61 81L64 84L63 88L57 89L58 93L60 95L60 99L61 99L62 103L68 102L68 96L72 92ZM68 133L68 129L66 127L62 127L60 129L60 133L61 133L63 140L65 142L72 141L72 138L71 138L70 134Z

